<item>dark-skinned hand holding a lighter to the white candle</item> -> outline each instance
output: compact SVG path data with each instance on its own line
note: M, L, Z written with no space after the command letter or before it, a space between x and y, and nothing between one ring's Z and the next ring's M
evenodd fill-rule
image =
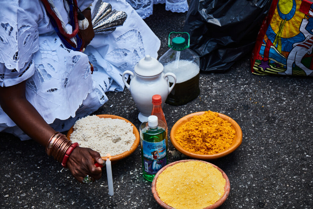
M82 183L85 176L89 175L92 181L100 179L102 170L100 167L95 166L95 162L103 164L100 154L90 148L76 147L69 155L66 163L67 168L70 170L75 179Z

